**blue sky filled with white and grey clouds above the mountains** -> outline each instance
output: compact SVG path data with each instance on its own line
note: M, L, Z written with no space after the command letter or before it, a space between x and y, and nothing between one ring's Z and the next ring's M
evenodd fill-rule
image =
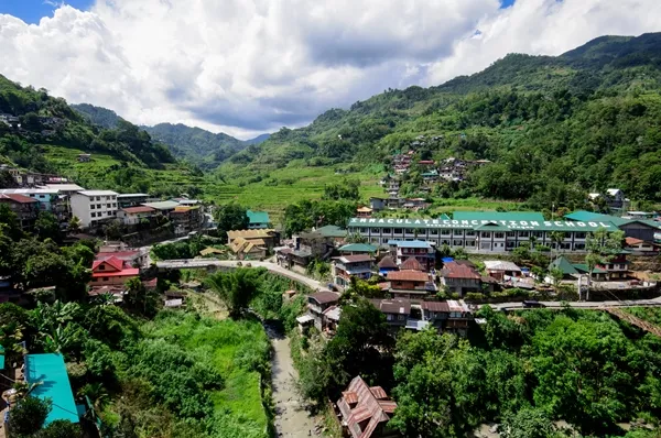
M508 53L661 31L660 0L0 0L0 74L240 139Z

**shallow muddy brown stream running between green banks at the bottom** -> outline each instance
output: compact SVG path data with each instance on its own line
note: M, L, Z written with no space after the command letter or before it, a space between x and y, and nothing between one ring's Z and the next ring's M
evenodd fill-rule
M290 355L289 338L272 338L273 402L275 430L279 437L316 437L314 419L307 414L295 388L299 374Z

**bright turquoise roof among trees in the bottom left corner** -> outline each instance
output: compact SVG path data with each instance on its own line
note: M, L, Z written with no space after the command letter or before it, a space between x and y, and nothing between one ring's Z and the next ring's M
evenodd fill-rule
M53 401L46 425L57 419L78 423L78 410L62 354L25 355L25 380L28 383L41 383L32 391L33 396Z

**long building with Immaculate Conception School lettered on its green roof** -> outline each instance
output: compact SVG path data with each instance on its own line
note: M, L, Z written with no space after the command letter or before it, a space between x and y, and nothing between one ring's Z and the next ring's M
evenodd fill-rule
M568 218L567 218L568 219ZM647 222L647 221L646 221ZM653 221L649 221L653 222ZM649 234L657 226L647 225ZM585 241L589 232L619 228L608 220L544 220L539 212L484 212L456 211L454 219L393 219L353 218L348 230L375 245L394 241L426 241L440 247L462 248L468 253L507 253L521 244L555 247L553 236L562 231L563 239L557 245L565 252L585 253ZM631 236L652 241L641 236Z

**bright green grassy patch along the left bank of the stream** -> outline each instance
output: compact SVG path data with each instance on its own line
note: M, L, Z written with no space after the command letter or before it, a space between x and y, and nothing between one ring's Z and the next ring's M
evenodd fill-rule
M151 322L152 338L174 339L182 348L207 358L225 381L214 392L215 423L224 437L266 437L269 418L262 405L261 374L269 369L269 340L257 321L217 321L172 313Z

